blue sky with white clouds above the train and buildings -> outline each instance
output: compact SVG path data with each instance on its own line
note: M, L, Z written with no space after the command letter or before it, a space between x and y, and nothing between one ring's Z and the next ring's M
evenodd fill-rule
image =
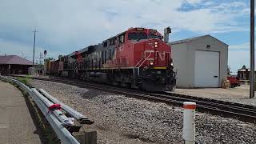
M0 54L31 59L34 27L36 58L58 58L135 26L170 26L170 41L211 34L229 45L232 71L249 66L249 0L1 0Z

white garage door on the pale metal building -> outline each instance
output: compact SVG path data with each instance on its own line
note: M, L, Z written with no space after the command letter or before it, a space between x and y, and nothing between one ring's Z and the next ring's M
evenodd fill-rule
M195 50L194 86L218 87L219 52Z

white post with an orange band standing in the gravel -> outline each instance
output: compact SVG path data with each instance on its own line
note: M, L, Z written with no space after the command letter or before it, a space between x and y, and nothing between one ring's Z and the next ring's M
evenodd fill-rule
M183 103L183 130L182 138L185 144L195 143L195 102Z

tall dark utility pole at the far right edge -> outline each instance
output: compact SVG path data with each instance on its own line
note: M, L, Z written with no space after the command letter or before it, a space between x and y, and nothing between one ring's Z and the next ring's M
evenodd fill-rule
M254 0L250 0L250 98L254 98Z

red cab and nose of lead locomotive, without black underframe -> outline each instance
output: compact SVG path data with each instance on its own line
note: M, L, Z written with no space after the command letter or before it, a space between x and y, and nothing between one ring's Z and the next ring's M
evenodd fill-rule
M157 30L133 28L126 31L126 47L133 54L132 66L166 69L170 65L170 46Z

